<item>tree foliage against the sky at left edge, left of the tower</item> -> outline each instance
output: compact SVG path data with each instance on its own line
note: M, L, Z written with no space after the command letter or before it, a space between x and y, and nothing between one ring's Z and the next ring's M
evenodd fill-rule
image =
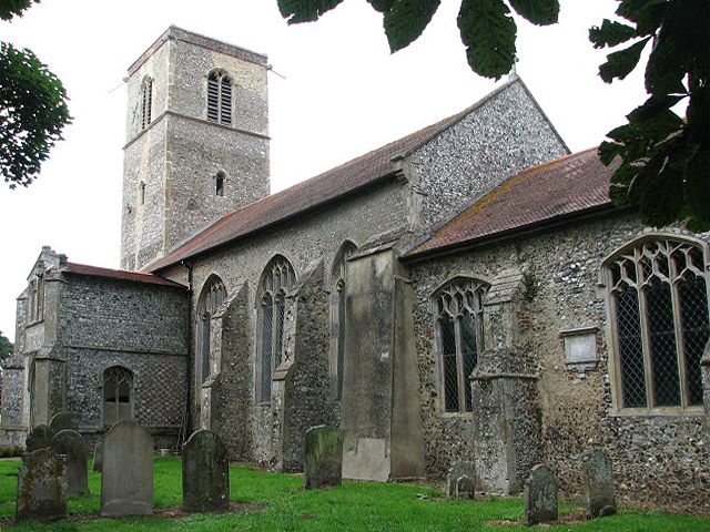
M10 20L32 0L0 0L0 18ZM0 42L0 172L10 188L27 186L64 125L71 122L61 81L30 50Z

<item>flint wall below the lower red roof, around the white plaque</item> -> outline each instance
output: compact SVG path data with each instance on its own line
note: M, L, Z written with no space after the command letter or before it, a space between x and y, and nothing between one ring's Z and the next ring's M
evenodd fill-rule
M420 401L425 432L427 474L444 478L453 460L471 460L473 446L454 437L468 433L475 413L444 413L437 402L438 356L429 297L456 275L495 278L507 265L535 276L538 293L523 309L528 328L526 351L539 375L532 416L541 433L540 459L555 463L560 491L584 493L581 458L590 446L610 453L622 479L619 492L635 502L679 508L707 504L710 467L704 442L707 411L696 409L677 416L619 416L612 410L609 381L605 294L597 288L601 262L633 239L653 233L633 214L580 222L545 234L497 243L468 253L432 259L413 266L415 336L420 376ZM686 234L669 228L669 234ZM701 235L710 242L710 235ZM597 327L596 368L581 375L565 364L561 330ZM706 398L707 399L707 398ZM687 487L696 489L691 493Z

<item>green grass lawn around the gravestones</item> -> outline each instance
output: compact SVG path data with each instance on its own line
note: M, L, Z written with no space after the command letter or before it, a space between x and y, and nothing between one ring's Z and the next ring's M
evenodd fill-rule
M91 495L69 500L70 519L51 525L12 526L19 461L0 461L0 530L29 531L530 531L521 524L520 499L453 501L435 488L396 483L349 482L332 490L305 491L298 475L265 473L243 466L230 470L231 499L245 504L236 513L178 518L98 519L101 477L90 473ZM181 466L176 458L155 458L156 508L180 507ZM574 505L564 513L578 512ZM7 528L6 528L7 526ZM622 509L596 521L558 524L545 530L608 532L710 532L710 518L669 515Z

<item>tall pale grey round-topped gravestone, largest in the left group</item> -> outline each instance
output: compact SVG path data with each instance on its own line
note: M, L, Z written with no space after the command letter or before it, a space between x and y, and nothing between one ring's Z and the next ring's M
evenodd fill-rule
M135 420L114 423L103 440L101 515L153 514L153 438Z

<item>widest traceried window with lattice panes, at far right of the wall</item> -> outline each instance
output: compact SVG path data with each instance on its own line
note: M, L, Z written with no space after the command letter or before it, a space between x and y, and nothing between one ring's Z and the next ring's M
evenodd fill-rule
M656 238L606 262L620 408L702 406L700 358L710 337L703 255L696 244Z

